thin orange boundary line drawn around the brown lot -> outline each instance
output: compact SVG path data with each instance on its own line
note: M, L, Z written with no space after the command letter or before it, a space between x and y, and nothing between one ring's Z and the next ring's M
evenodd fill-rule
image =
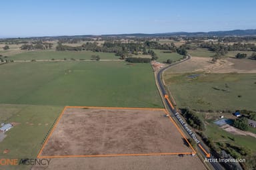
M117 157L117 156L141 156L141 155L179 155L179 154L184 154L184 155L190 155L193 154L193 152L185 152L185 153L127 153L127 154L108 154L108 155L54 155L54 156L41 156L41 153L43 151L43 149L45 148L45 145L47 144L47 142L49 141L49 138L51 137L51 135L53 134L53 131L55 130L55 128L57 127L57 124L59 124L59 120L61 120L61 117L63 116L65 110L67 108L104 108L104 109L126 109L126 110L161 110L164 111L165 114L167 114L167 111L163 108L111 108L111 107L95 107L95 106L65 106L64 109L62 110L61 114L59 115L59 118L57 119L57 122L55 122L55 125L53 126L53 129L51 129L50 134L48 135L47 139L45 140L45 142L43 143L42 148L40 149L39 153L37 154L37 158L61 158L61 157ZM169 115L169 114L167 114ZM169 117L170 120L171 117ZM180 131L180 129L177 127L177 125L175 124L175 122L172 120L173 124L175 125L175 127L179 130L179 132L181 133L181 135L184 137L183 133ZM187 141L187 138L184 137L185 140ZM189 143L189 141L187 141L187 143ZM191 146L191 144L189 143L189 146L191 147L191 149L195 152L195 150L193 149L193 147Z

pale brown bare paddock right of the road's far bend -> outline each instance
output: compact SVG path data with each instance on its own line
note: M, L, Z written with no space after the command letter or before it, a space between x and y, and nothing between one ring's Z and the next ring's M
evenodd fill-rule
M172 66L166 72L256 73L256 60L223 58L213 64L211 59L193 56L190 60Z

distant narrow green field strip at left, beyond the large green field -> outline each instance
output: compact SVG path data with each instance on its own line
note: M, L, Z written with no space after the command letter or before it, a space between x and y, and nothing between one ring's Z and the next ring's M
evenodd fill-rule
M9 56L12 60L45 60L45 59L91 59L91 55L99 55L101 59L117 60L114 53L82 51L31 50Z

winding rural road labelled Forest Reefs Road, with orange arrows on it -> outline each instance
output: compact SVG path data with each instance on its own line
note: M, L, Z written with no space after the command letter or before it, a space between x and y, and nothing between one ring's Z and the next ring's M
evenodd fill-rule
M185 58L185 59L182 60L181 62L184 62L184 61L186 61L186 60L189 60L190 58L191 58L191 56L188 55L187 58ZM158 87L159 87L160 95L161 95L161 96L162 96L162 95L163 95L163 96L168 95L167 92L166 92L166 90L165 90L165 86L163 85L162 79L161 79L161 75L162 75L163 71L166 70L167 68L170 68L171 66L175 66L175 65L177 65L177 64L179 64L179 63L181 63L181 62L175 62L175 63L173 63L173 64L170 64L169 66L167 66L167 67L165 67L165 68L159 70L159 72L157 73L157 84L159 85ZM172 113L172 117L173 117L173 118L176 118L176 120L177 120L177 116L175 115L175 114L177 113L177 111L176 111L175 108L173 108L173 106L171 106L171 104L169 103L169 98L165 98L164 102L165 102L165 106L167 107L166 109L167 109L169 112L171 112L171 113ZM179 121L177 121L177 122L179 122ZM179 122L179 123L180 123L180 122ZM180 123L180 125L181 125L181 127L183 128L183 126L182 126L181 123ZM186 130L183 128L183 131L186 131ZM187 133L188 133L188 131L187 131ZM191 134L189 134L189 133L188 133L188 135L191 136ZM191 137L191 138L192 138L192 137ZM215 159L215 157L213 157L212 155L211 155L210 157L206 157L205 151L207 151L207 149L205 149L206 147L205 147L205 145L204 145L201 141L199 141L199 143L197 143L197 147L198 147L197 150L200 151L200 152L201 152L201 155L203 155L205 158L207 158L207 159ZM203 147L203 148L201 148L201 147ZM207 153L209 153L209 151L207 151ZM214 169L217 169L217 170L222 170L222 169L223 169L223 167L222 167L219 163L211 162L211 165L212 165L212 167L213 167Z

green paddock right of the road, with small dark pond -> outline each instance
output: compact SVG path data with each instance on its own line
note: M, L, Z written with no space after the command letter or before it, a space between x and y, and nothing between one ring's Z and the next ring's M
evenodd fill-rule
M189 73L165 74L165 83L180 108L256 110L256 74L198 74L195 78L189 78Z

